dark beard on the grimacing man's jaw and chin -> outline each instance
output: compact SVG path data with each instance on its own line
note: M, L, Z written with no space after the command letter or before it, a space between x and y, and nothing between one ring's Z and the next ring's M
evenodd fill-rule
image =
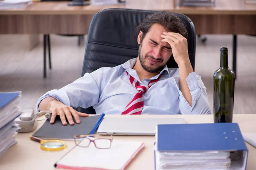
M148 71L149 73L157 73L157 72L160 72L163 70L163 68L165 67L165 64L162 64L162 65L159 65L159 67L157 68L154 68L152 67L153 64L150 64L150 66L147 66L145 64L145 60L147 58L151 58L151 59L154 59L154 60L158 60L158 61L161 61L163 62L163 59L155 59L153 56L147 54L145 57L143 57L143 54L142 54L142 51L141 51L141 44L139 46L139 51L138 51L138 55L139 55L139 59L140 59L140 65L142 66L142 68L145 70L145 71Z

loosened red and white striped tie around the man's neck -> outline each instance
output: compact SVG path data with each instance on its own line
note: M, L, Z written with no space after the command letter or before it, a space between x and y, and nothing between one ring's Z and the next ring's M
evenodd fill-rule
M126 72L126 74L128 75L128 72ZM130 75L131 85L137 88L137 93L121 114L140 114L144 106L143 93L145 93L151 87L151 85L154 85L156 82L158 82L161 76L162 75L160 75L157 79L151 80L147 86L144 86L140 85L140 82L138 82Z

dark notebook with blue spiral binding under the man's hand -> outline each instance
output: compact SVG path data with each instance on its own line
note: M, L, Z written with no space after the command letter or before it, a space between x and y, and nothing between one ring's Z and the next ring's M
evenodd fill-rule
M56 116L54 124L50 124L51 117L44 122L32 136L41 139L74 139L75 135L94 134L102 121L104 113L95 116L79 117L80 123L75 125L62 125L59 116ZM74 119L74 118L73 118ZM74 122L76 122L74 120Z

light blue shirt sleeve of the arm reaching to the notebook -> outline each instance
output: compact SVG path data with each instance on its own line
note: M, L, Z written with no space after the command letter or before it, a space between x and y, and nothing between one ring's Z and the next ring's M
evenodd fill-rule
M86 73L83 77L61 89L48 91L38 99L36 105L37 111L39 111L38 106L40 102L49 96L73 108L79 106L88 108L96 105L99 102L99 96L102 91L101 87L104 87L104 85L102 85L102 83L104 83L103 72L104 69L98 69L91 74Z

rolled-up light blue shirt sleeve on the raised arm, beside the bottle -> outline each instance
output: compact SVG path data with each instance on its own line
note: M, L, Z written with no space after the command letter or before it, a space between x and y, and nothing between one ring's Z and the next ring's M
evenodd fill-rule
M192 96L192 106L186 101L180 91L179 77L174 77L179 91L179 108L181 114L211 114L206 87L198 73L192 72L186 79L190 94Z

